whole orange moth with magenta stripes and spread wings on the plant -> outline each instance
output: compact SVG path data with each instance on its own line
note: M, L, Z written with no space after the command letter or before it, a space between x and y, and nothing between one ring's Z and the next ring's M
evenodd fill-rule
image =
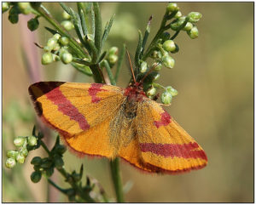
M29 87L29 94L38 116L80 155L121 157L149 173L179 174L205 167L201 146L146 96L134 75L133 82L127 88L39 82Z

